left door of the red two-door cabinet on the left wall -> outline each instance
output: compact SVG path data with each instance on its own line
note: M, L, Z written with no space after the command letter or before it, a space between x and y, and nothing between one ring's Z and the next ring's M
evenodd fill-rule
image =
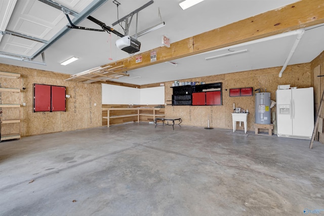
M51 111L51 85L34 84L34 112Z

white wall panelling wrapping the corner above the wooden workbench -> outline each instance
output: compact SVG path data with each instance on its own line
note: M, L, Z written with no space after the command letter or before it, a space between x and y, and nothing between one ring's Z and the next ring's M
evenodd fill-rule
M136 89L102 83L101 89L102 104L163 105L165 101L164 86Z

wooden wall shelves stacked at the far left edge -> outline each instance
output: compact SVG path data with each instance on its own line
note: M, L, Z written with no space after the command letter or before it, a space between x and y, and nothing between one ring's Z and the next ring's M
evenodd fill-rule
M0 77L2 78L10 78L10 79L19 79L20 74L18 73L9 73L0 71ZM0 88L0 92L7 93L18 93L17 100L15 102L20 101L20 89L13 88ZM4 101L6 103L6 101ZM11 109L11 108L19 108L19 118L20 118L20 104L0 104L0 108ZM10 112L7 112L10 113ZM4 118L4 117L3 117ZM20 139L20 119L11 119L10 116L6 116L5 119L1 120L2 124L10 125L10 124L19 124L19 133L18 134L3 134L1 133L1 141L4 140L12 140L12 139Z

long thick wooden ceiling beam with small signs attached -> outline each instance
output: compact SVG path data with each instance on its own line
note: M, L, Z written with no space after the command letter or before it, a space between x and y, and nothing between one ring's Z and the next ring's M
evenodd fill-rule
M135 54L132 57L117 61L115 65L125 65L127 68L119 72L129 71L321 23L324 23L324 1L301 0L279 9L173 42L170 48L158 47ZM150 61L152 51L156 52L156 61L154 62ZM138 56L142 56L140 63L136 63Z

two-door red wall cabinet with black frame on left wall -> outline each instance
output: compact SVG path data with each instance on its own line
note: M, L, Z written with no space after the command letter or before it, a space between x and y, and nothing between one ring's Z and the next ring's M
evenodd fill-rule
M34 112L65 111L65 87L34 84Z

